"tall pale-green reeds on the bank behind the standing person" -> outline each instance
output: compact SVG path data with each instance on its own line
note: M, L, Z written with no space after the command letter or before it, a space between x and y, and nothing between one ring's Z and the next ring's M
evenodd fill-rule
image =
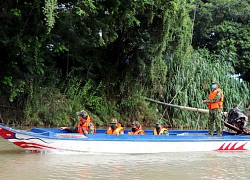
M239 103L240 108L245 109L249 102L249 84L233 77L234 70L228 59L234 58L235 54L225 51L214 55L206 50L198 50L191 60L181 62L179 66L173 61L168 61L166 102L206 109L202 100L208 98L211 82L216 81L225 94L223 111L228 111ZM207 114L179 109L167 110L163 120L170 127L206 128Z

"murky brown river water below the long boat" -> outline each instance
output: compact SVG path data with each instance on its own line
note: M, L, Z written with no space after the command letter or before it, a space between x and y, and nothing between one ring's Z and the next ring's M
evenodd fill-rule
M250 179L250 152L31 153L0 137L0 180Z

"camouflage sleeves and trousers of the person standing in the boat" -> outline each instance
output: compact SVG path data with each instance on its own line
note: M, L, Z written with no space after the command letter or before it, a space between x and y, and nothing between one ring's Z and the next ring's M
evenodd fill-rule
M222 96L223 94L218 91L216 97L213 100L207 100L207 102L217 102L222 98ZM209 109L208 134L213 135L214 129L216 129L217 135L222 135L221 109Z

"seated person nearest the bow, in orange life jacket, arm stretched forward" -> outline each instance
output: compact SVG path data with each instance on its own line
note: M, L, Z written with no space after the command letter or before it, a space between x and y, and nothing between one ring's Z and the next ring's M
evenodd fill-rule
M80 134L94 134L96 132L96 127L90 120L90 116L84 110L77 112L78 115L78 125L77 127L61 127L61 130L67 130L68 132L75 132Z

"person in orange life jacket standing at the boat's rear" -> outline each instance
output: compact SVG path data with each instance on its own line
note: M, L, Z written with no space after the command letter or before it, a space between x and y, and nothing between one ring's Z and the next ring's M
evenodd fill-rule
M212 90L208 96L208 100L203 100L209 109L209 121L208 121L208 134L214 134L214 126L217 135L222 135L222 115L224 94L222 89L219 88L219 84L212 82Z

